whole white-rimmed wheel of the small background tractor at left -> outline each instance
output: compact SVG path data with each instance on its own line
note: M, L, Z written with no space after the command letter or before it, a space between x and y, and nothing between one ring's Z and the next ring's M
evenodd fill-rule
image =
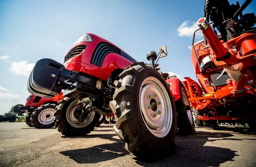
M38 129L53 127L55 107L55 104L44 104L36 108L30 118L31 124Z

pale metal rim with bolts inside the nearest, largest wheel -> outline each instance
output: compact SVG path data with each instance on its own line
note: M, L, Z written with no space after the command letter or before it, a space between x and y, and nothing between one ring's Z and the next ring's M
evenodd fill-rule
M152 76L145 78L140 86L139 103L148 130L158 138L165 137L172 127L172 104L164 85Z

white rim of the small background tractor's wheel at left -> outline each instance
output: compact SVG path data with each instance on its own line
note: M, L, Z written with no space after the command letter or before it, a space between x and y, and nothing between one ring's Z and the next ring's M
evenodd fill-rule
M55 112L55 109L53 108L46 108L42 110L38 115L38 122L44 125L51 124L54 121L53 120L54 112Z

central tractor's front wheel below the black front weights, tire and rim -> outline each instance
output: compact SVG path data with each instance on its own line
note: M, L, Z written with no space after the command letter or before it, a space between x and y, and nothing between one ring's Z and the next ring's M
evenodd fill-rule
M75 116L75 110L79 107L77 102L66 97L56 107L55 127L64 136L85 136L94 130L99 121L99 113L92 111L84 122L78 122Z

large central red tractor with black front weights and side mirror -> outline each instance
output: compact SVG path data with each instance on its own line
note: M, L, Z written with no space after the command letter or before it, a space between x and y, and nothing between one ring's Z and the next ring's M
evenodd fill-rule
M113 111L113 129L128 151L136 156L170 153L177 126L189 135L195 125L184 86L157 68L157 57L165 56L164 45L158 55L147 54L149 64L137 62L113 43L83 34L64 57L64 65L52 59L36 62L28 90L47 98L64 90L55 127L65 136L90 133L99 115Z

